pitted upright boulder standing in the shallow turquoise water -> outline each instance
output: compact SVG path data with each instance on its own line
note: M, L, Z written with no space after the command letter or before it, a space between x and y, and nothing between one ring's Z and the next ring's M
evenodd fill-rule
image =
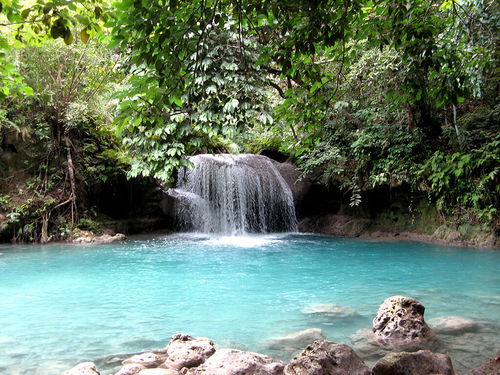
M414 298L395 295L383 301L373 319L375 339L382 341L428 341L434 331L423 320L425 307Z

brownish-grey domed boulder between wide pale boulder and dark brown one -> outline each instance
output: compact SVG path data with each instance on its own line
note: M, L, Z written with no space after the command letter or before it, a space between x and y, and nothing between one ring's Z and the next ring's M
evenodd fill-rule
M318 340L295 355L284 368L285 375L370 375L370 370L345 343Z

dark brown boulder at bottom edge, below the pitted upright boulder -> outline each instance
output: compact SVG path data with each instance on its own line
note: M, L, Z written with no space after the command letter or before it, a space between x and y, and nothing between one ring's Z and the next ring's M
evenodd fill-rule
M430 350L387 354L375 363L371 373L372 375L454 375L450 357Z

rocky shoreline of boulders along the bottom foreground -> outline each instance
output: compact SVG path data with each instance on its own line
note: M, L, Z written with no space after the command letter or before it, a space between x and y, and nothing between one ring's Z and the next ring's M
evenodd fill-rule
M209 338L193 338L185 333L173 334L163 348L130 355L125 359L117 355L103 358L106 358L105 362L108 364L118 364L115 375L459 374L453 369L448 354L429 348L435 346L438 335L466 332L473 329L475 322L447 317L434 319L434 328L431 328L423 319L424 310L423 305L414 298L400 295L387 298L380 305L371 330L358 335L357 340L351 339L354 348L345 343L336 344L320 338L320 330L319 335L318 332L309 330L297 332L302 334L302 338L311 339L311 342L288 363L253 351L217 349ZM276 344L283 345L286 339L297 337L299 335L285 337L281 341L276 340ZM361 359L366 354L363 347L371 347L372 352L374 348L382 350L371 369ZM94 362L82 362L62 375L100 375L97 367ZM467 372L467 375L498 374L500 351L485 362L476 363Z

